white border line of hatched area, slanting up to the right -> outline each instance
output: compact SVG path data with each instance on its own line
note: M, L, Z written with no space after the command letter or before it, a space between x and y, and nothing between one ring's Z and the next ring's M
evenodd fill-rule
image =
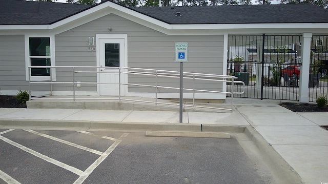
M123 135L121 135L118 139L116 139L116 141L114 142L114 144L112 144L112 146L110 146L106 151L105 151L105 154L100 156L98 159L96 159L92 164L91 166L89 166L88 169L86 169L86 171L84 172L84 175L81 175L80 177L78 177L76 180L75 180L75 184L77 183L83 183L83 181L85 179L87 179L87 177L93 172L94 169L96 169L101 162L103 162L107 156L109 154L112 153L112 151L118 146L118 144L123 140L124 137L128 136L129 133L124 133Z

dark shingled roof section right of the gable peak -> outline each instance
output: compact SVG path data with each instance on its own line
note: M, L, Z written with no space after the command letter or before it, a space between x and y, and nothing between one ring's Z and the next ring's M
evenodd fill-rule
M312 4L132 7L169 24L328 23L328 10ZM180 15L176 15L180 12Z

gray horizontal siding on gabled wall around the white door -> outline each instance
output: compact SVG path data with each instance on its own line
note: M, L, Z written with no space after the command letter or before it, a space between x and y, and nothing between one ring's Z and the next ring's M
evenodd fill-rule
M108 28L112 28L109 31ZM175 43L187 42L188 62L183 71L222 74L223 35L168 36L156 30L139 25L128 19L110 14L90 23L78 26L55 36L56 66L96 66L96 51L89 51L88 37L96 34L128 34L128 67L179 71L180 63L175 62ZM96 42L96 40L95 40ZM96 44L92 47L96 47ZM56 72L57 81L71 81L69 71ZM96 81L96 74L85 74L80 81ZM77 79L76 79L77 81ZM154 85L154 79L145 76L128 76L129 83ZM192 87L185 80L186 87ZM178 87L179 79L160 78L161 86ZM208 90L221 90L221 84L197 84ZM56 86L56 91L71 91L66 85ZM96 85L83 85L80 91L96 91ZM128 92L154 92L154 89L129 86ZM178 92L161 89L160 92Z

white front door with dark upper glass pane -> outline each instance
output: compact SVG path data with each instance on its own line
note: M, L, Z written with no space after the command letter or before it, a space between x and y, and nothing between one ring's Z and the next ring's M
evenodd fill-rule
M119 75L117 68L105 67L125 67L125 39L124 38L99 38L99 82L100 83L118 83ZM121 70L124 71L124 70ZM107 73L110 72L110 73ZM125 81L125 74L120 76L121 83ZM118 96L118 84L100 84L100 96ZM125 85L121 85L121 95L125 95Z

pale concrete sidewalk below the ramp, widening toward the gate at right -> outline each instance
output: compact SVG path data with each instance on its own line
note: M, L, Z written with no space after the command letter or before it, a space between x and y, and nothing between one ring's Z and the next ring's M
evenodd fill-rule
M328 113L295 113L278 101L234 99L233 112L0 108L0 126L236 132L252 126L304 183L328 183ZM200 126L201 125L201 126ZM260 148L261 149L261 148Z

